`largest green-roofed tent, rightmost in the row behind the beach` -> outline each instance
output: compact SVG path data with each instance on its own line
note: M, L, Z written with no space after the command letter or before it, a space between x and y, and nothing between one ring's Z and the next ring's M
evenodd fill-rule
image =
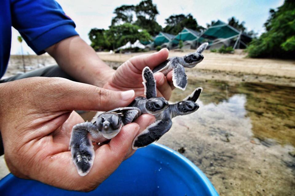
M209 46L215 45L217 43L222 43L224 41L230 40L234 43L233 48L245 48L252 38L242 33L241 31L231 27L230 25L218 20L214 25L210 26L205 32L203 32L198 43L203 43L205 41L209 42Z

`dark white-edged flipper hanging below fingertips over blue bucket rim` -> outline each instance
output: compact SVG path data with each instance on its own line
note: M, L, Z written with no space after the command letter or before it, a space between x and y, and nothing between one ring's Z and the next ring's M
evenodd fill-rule
M139 149L158 141L172 126L171 119L158 120L138 134L133 140L132 148Z

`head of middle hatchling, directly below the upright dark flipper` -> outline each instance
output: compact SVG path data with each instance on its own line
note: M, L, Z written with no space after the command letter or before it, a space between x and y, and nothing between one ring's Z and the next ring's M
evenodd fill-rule
M163 97L155 97L147 99L145 108L149 114L155 115L165 110L168 107L168 101Z

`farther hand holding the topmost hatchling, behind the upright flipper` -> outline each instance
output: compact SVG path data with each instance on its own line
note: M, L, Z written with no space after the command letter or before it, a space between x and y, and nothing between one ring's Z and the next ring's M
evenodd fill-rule
M146 66L150 67L152 70L167 59L168 53L168 50L164 48L153 54L139 55L130 58L119 66L103 88L116 91L134 89L135 96L143 96L144 85L142 84L142 70ZM166 100L169 100L172 92L171 85L169 85L172 84L172 72L167 74L167 78L164 74L157 73L155 74L155 79L158 89L157 96L163 96Z

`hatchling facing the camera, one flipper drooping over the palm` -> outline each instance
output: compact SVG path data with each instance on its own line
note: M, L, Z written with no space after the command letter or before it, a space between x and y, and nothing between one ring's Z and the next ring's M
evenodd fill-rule
M137 107L120 107L98 115L94 123L73 126L69 149L78 174L84 176L92 168L95 155L92 141L104 142L115 137L123 125L131 123L139 114Z

